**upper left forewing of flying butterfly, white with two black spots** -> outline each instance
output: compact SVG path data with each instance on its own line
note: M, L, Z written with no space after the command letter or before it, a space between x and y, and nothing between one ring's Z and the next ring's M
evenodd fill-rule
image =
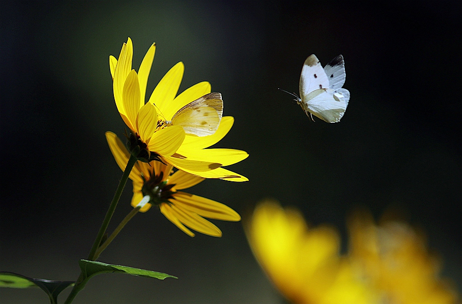
M308 56L300 74L300 98L304 100L314 90L329 87L328 76L316 55Z

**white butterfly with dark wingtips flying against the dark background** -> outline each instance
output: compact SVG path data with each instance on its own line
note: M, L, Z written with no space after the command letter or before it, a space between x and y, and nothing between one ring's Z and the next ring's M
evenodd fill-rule
M310 55L300 75L300 98L296 96L297 104L311 119L314 115L325 122L339 122L350 100L350 92L342 89L345 77L342 55L334 58L324 69L317 57Z

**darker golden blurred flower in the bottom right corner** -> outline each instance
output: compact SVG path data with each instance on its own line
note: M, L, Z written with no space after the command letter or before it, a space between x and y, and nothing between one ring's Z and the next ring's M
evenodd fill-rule
M441 265L428 254L425 238L409 225L357 213L349 224L350 257L383 297L397 304L455 303L456 293L439 278Z

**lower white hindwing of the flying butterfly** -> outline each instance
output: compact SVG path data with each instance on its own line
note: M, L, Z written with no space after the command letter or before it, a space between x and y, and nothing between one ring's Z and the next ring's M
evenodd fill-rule
M343 117L350 93L345 97L342 93L334 93L332 89L319 89L312 92L311 96L311 99L302 101L302 108L325 122L333 123L339 122Z

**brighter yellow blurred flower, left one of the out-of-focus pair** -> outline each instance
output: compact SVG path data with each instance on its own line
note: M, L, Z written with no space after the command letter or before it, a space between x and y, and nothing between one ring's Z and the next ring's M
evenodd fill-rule
M339 256L339 236L332 227L309 228L297 210L266 200L256 207L246 234L261 267L288 300L372 303L367 287Z

